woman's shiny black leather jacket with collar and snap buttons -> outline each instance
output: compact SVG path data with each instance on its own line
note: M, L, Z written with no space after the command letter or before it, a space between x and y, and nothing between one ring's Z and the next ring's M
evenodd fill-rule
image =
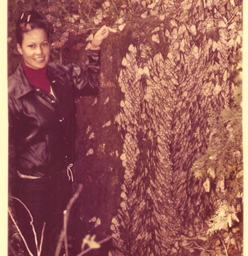
M15 168L24 175L44 176L74 161L75 95L97 94L99 51L88 51L86 69L76 64L47 64L55 98L30 85L21 64L8 81L10 141Z

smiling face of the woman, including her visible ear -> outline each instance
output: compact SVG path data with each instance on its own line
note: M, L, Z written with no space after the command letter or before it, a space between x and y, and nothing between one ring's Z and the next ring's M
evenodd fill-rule
M45 30L36 28L23 33L22 44L17 44L17 50L27 67L45 67L50 57L50 44Z

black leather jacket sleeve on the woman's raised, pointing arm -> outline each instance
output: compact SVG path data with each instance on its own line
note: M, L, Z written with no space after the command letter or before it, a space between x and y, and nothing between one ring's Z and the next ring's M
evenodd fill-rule
M64 69L69 74L70 82L75 88L76 93L97 94L99 88L99 73L101 69L100 51L87 51L85 68L77 64L68 64Z

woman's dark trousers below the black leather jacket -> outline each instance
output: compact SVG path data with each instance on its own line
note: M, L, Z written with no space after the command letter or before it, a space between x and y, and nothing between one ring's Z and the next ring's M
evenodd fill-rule
M57 240L63 228L63 211L71 197L71 181L68 180L66 173L60 172L40 179L18 178L14 196L27 206L33 216L38 246L44 222L46 223L41 255L54 256ZM13 205L18 226L31 252L37 256L30 216L17 200L13 199Z

